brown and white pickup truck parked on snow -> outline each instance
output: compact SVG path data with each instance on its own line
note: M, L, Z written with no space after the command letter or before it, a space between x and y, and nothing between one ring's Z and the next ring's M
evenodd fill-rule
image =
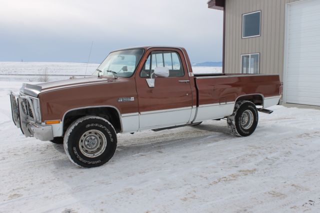
M226 118L248 136L280 86L277 74L194 74L184 48L146 46L111 52L91 77L23 84L10 100L25 136L63 143L73 163L94 167L113 156L117 133Z

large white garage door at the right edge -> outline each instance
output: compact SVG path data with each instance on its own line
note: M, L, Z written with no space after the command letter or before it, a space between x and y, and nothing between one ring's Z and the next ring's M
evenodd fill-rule
M320 0L288 4L284 101L320 105Z

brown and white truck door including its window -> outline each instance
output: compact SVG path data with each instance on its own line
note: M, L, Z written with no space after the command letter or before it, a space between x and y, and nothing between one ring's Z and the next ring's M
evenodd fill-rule
M192 92L186 63L182 60L183 53L177 49L149 51L147 59L135 77L139 130L180 125L189 121ZM169 75L155 76L155 67L167 67Z

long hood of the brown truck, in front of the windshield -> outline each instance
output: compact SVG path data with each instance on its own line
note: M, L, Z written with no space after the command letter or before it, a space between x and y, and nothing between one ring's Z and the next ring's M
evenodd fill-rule
M120 81L120 79L114 79L113 77L83 77L83 78L75 78L69 80L59 80L47 83L39 83L39 84L29 84L23 83L22 87L20 88L20 92L23 94L31 95L37 97L40 92L43 91L50 91L54 89L72 87L72 86L81 86L87 84L94 84L94 83L102 83L102 82L115 82Z

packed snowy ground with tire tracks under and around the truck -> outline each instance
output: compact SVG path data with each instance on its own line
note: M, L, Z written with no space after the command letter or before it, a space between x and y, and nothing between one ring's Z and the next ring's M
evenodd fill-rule
M0 82L0 212L320 211L320 110L271 107L249 137L225 120L118 134L114 157L83 169L13 125L20 85Z

